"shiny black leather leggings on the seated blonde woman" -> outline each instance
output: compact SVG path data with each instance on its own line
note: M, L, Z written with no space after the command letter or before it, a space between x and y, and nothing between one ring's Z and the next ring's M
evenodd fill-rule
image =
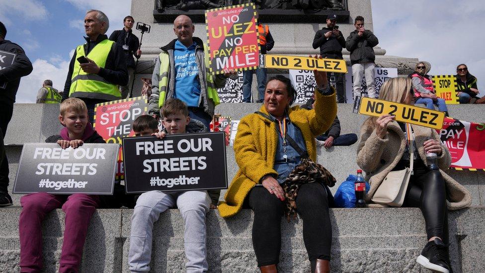
M403 206L421 209L428 240L436 236L448 244L446 185L439 171L411 176Z

